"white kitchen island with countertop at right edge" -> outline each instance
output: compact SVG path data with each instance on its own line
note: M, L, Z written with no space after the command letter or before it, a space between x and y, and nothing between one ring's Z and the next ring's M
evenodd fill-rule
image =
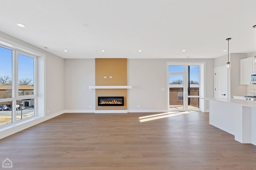
M256 145L256 101L230 99L210 102L209 123L235 136L240 143Z

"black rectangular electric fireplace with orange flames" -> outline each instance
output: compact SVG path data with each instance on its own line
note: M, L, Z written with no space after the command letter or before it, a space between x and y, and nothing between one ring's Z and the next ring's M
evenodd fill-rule
M124 97L98 97L98 106L124 106Z

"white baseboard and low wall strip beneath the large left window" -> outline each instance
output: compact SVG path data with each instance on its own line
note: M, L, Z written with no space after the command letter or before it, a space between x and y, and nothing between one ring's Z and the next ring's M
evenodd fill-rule
M2 128L0 131L0 139L10 136L24 129L27 129L29 127L32 127L34 125L37 125L38 123L42 123L43 121L52 119L53 117L61 115L62 113L64 113L64 111L59 111L45 117L31 117L28 119L24 119L23 121L16 122L15 124L11 123L9 125L6 125L6 127Z

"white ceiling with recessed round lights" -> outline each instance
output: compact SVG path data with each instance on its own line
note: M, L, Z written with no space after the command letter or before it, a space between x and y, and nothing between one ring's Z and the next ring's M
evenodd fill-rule
M0 0L0 31L65 59L215 58L227 54L229 37L230 53L256 51L255 7L256 0Z

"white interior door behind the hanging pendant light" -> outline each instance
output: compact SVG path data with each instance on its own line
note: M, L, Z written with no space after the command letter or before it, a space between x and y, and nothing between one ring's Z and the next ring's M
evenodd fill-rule
M228 69L225 66L214 68L214 98L228 102Z

